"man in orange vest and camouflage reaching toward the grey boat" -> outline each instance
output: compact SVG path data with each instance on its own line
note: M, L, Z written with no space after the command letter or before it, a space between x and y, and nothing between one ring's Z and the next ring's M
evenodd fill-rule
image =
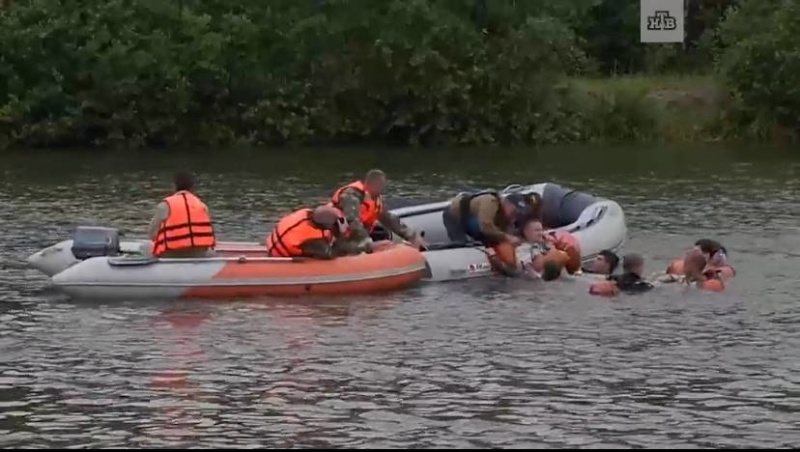
M383 191L386 174L379 169L369 170L363 181L351 182L339 188L331 197L331 205L344 213L350 224L347 240L362 251L372 251L370 234L377 222L393 234L411 242L416 247L425 247L425 241L416 231L400 221L397 215L384 208Z

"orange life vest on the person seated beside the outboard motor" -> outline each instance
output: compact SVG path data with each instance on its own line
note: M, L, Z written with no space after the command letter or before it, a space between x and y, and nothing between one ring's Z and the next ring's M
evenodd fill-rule
M161 256L166 251L213 248L216 245L211 218L200 198L191 192L179 191L164 198L164 202L169 213L153 240L153 256Z

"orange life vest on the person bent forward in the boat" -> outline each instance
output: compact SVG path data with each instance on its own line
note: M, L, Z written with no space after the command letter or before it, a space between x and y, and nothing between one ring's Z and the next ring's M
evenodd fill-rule
M324 239L333 243L333 233L311 221L314 211L300 209L283 217L267 236L267 253L272 257L301 257L302 246L309 240Z

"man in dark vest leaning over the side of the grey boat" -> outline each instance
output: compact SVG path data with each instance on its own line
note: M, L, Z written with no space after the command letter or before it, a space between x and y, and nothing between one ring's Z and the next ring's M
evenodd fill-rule
M495 251L499 263L512 269L517 266L516 247L522 239L514 229L520 218L534 217L541 203L531 195L496 191L459 194L442 213L447 236L452 242L481 242Z

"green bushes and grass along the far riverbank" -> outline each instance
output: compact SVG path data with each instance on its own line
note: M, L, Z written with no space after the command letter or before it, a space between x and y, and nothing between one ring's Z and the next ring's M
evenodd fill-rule
M639 0L4 0L0 150L796 141L798 15L692 0L680 45Z

